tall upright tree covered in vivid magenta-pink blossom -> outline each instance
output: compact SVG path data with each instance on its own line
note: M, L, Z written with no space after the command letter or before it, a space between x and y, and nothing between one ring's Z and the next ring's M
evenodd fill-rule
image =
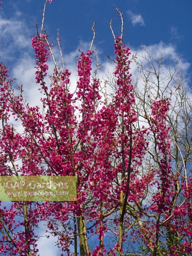
M44 12L47 2L52 3L46 0ZM98 60L95 76L91 73L92 56L96 54L97 59L95 23L90 49L80 52L76 92L72 93L70 71L64 63L58 67L43 32L43 13L42 27L32 38L43 109L29 106L22 86L17 88L19 95L14 93L14 79L0 63L1 176L69 175L77 179L76 201L19 201L1 207L0 252L4 255L38 255L41 221L50 233L47 237L57 236L61 255L192 253L191 109L183 105L188 102L184 100L187 94L180 83L179 90L167 96L158 80L160 68L156 69L152 59L147 69L136 56L130 58L123 42L123 16L116 12L122 28L121 35L115 36L111 20L116 58L113 78L107 82L110 95L99 79ZM59 33L58 45L63 61ZM50 58L55 68L46 84ZM143 79L140 92L131 78L131 61ZM171 82L178 86L176 70L170 73L166 92ZM151 84L154 74L157 83ZM174 112L172 99L180 104L179 111ZM21 122L23 133L16 131L11 116ZM178 121L183 116L180 130Z

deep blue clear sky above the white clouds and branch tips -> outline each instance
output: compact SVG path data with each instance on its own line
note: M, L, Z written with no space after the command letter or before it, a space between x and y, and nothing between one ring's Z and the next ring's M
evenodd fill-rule
M19 20L27 22L28 36L31 37L36 32L34 24L41 20L43 2L6 0L3 1L1 8L4 17L14 18L18 15ZM191 62L192 1L189 0L53 0L52 4L47 5L46 30L52 42L56 44L56 30L60 28L64 52L71 52L76 49L80 40L91 41L90 27L95 20L95 44L102 49L100 58L103 59L113 53L110 19L114 19L116 35L120 30L115 8L124 13L124 41L131 48L139 47L141 44L158 44L162 41L174 45L178 54Z

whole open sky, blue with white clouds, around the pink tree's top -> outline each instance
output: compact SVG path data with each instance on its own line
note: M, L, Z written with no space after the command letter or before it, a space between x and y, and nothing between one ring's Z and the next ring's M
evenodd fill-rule
M10 68L12 78L17 77L15 87L23 84L24 95L31 104L36 105L39 103L39 92L36 92L35 87L34 51L30 45L32 36L36 34L34 25L41 22L44 1L1 1L0 62L3 61ZM105 71L111 70L107 55L113 55L114 40L109 21L114 19L116 36L121 28L115 8L119 8L124 14L124 42L133 52L140 52L140 46L144 44L152 53L163 52L166 62L181 57L185 76L192 75L191 0L53 0L52 4L47 4L44 25L54 46L57 44L57 28L60 28L60 43L67 68L72 69L75 74L78 48L86 50L90 47L90 28L93 21L96 21L95 45L98 48L99 60ZM57 50L54 54L59 56ZM75 76L72 76L72 82L75 82L75 79ZM190 84L191 82L188 85ZM22 130L20 124L15 125L18 130ZM40 235L43 235L43 232ZM40 238L40 255L45 255L45 247L50 249L48 256L57 255L57 248L51 244L56 239L50 239L52 241Z

